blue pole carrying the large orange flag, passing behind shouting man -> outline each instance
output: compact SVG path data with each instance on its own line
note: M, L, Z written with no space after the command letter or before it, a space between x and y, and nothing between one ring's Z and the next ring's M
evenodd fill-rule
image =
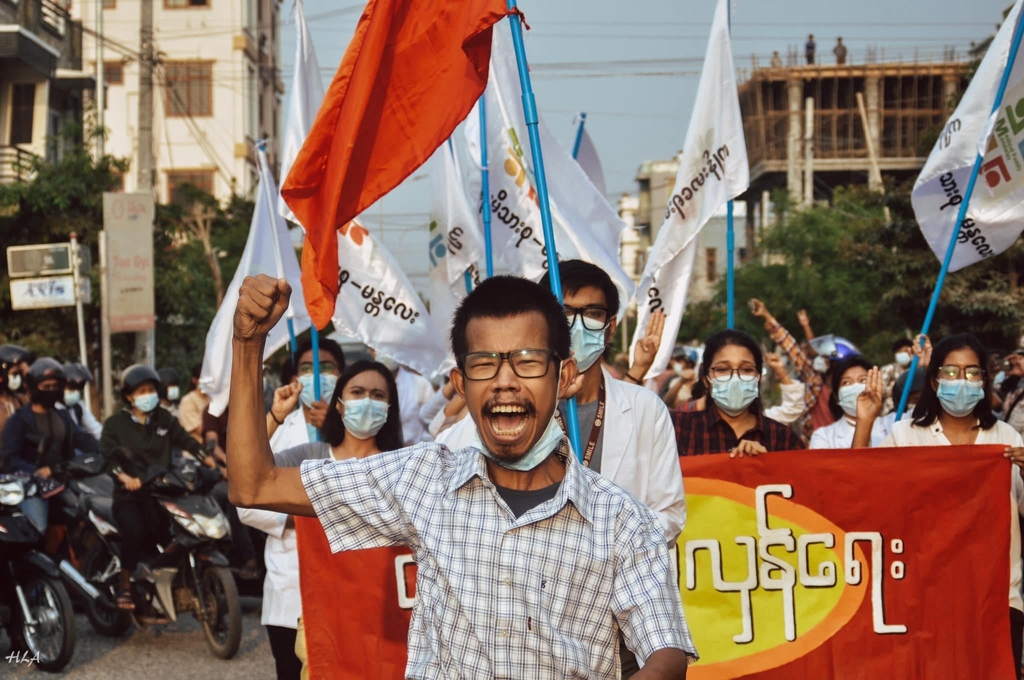
M516 9L516 0L507 0L509 11ZM544 155L541 153L540 119L537 116L537 100L529 82L529 67L526 62L526 47L522 42L520 17L509 16L512 27L512 43L515 45L515 61L519 69L519 85L522 87L522 113L529 131L529 150L534 157L534 175L537 180L537 199L541 208L541 223L544 226L544 245L548 251L548 273L551 274L551 292L562 302L562 278L558 271L558 253L555 249L555 228L551 221L551 205L548 203L548 177L544 172ZM583 461L580 445L580 416L577 413L575 397L565 401L565 420L569 441L577 456Z

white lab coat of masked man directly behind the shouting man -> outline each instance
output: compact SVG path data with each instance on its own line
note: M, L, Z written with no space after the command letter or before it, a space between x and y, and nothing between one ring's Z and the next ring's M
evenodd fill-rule
M669 409L656 393L604 374L606 412L601 429L601 474L657 514L675 543L686 525L686 495ZM476 424L464 418L438 435L457 451L471 445Z

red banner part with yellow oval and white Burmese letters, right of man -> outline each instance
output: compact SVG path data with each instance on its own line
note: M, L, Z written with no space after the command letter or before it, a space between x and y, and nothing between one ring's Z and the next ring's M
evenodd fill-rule
M1000 447L681 459L690 680L1013 680Z

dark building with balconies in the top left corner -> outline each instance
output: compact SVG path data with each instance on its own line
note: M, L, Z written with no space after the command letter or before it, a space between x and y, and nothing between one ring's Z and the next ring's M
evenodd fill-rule
M82 26L51 0L0 0L0 182L62 152L61 128L82 122Z

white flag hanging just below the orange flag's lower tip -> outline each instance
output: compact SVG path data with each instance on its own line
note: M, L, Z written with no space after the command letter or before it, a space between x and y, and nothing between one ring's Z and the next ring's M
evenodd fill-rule
M338 230L338 262L335 330L434 375L447 354L446 343L391 253L352 220Z

